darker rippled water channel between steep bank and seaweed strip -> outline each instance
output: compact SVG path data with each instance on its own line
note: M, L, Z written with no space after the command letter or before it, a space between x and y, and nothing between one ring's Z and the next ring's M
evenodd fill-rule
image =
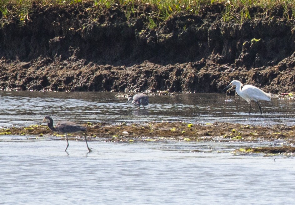
M28 92L0 91L0 126L28 126L44 115L53 120L107 123L185 121L192 123L234 122L243 124L294 125L293 101L272 99L260 103L263 114L253 104L235 96L197 93L176 96L149 96L146 109L137 110L114 92ZM233 101L225 102L225 100Z

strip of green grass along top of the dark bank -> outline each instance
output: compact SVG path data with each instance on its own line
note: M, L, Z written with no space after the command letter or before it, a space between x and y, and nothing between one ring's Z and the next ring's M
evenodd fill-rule
M282 17L295 19L295 0L0 0L2 18L10 18L17 14L20 21L29 18L32 4L40 6L71 5L88 2L97 8L120 7L124 10L127 20L136 16L136 9L141 6L151 6L157 13L156 20L165 21L171 15L188 12L198 14L207 6L219 5L224 21L245 20L265 17L274 13L274 8L282 9ZM255 8L255 9L253 9ZM157 27L156 20L148 18L150 28Z

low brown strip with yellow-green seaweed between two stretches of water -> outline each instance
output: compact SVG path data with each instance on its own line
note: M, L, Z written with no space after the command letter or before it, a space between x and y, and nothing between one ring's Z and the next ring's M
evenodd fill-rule
M125 123L121 125L97 124L84 125L89 141L142 142L142 141L284 141L292 145L295 137L295 126L248 126L233 123L214 123L207 125L187 124L181 122L155 123L148 125ZM11 127L0 129L0 135L24 135L29 139L44 136L56 136L64 139L64 135L53 133L47 126L32 125L29 127ZM73 134L69 140L83 140L83 134ZM291 146L268 146L241 148L235 152L294 153Z

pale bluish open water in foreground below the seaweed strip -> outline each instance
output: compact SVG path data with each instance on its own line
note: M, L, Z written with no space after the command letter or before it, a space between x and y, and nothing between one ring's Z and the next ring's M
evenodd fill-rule
M293 204L293 158L239 143L0 142L1 204ZM199 150L199 152L196 152Z

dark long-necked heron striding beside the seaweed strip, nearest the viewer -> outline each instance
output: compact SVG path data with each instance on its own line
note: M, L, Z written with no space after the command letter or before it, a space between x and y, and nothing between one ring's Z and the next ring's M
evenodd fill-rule
M59 121L58 124L53 127L53 119L46 115L43 119L43 121L40 123L40 125L44 122L47 122L47 126L50 130L54 131L54 132L62 132L65 133L66 135L66 139L68 142L68 146L69 146L69 141L68 141L68 133L73 133L73 132L80 132L80 131L86 131L86 127L80 126L74 122L70 122L70 121ZM91 152L92 150L89 148L88 143L87 143L87 137L85 135L85 141L86 141L86 145L87 148L89 150L89 152ZM65 151L67 151L68 146L66 148Z

